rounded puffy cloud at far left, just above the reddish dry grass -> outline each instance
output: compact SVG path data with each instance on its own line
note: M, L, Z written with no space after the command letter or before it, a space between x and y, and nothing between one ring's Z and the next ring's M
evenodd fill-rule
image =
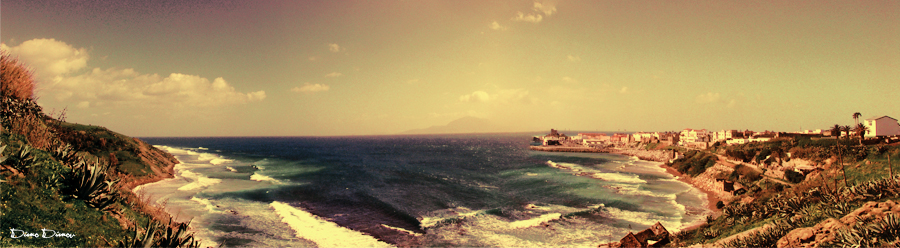
M41 79L53 79L84 69L90 58L86 49L76 49L55 39L33 39L14 47L3 45L3 49L34 68Z

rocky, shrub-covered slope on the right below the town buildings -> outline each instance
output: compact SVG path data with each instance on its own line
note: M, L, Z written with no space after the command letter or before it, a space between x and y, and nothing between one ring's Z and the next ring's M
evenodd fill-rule
M868 143L797 136L685 151L668 165L737 186L721 212L669 246L900 246L900 178L890 166L900 147Z

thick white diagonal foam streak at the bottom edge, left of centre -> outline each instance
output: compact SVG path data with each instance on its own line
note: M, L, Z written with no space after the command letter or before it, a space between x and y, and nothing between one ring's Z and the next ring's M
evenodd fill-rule
M306 211L282 202L269 204L282 222L294 229L298 238L315 242L319 247L392 247L364 233L338 226Z

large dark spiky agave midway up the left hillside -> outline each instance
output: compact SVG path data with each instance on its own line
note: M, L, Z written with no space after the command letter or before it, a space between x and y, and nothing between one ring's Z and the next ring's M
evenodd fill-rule
M107 180L109 166L97 160L91 163L79 161L74 167L69 175L70 184L66 193L93 208L110 210L119 198L115 190L119 179Z

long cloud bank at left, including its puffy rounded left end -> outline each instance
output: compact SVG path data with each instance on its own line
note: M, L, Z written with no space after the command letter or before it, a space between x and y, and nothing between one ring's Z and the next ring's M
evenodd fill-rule
M29 40L8 47L8 50L32 66L38 77L52 78L45 81L39 93L76 108L149 106L177 109L243 104L266 98L265 91L238 92L221 77L212 81L181 73L161 77L120 68L94 68L77 73L87 67L87 50L54 39Z

